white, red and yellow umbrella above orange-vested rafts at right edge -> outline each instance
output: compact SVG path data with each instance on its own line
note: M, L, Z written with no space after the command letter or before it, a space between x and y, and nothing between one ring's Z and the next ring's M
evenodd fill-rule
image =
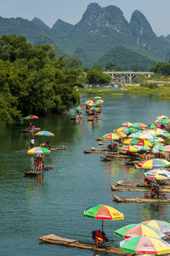
M161 170L161 169L153 169L150 171L147 171L144 173L145 178L151 178L151 179L168 179L170 178L170 172L167 170Z

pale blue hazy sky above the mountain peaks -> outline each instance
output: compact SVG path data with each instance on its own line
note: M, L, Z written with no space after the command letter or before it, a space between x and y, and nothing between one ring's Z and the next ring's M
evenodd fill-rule
M101 7L117 6L130 22L133 11L144 14L157 36L170 34L170 0L0 0L0 16L3 18L26 18L31 21L38 17L47 26L57 19L75 25L91 3Z

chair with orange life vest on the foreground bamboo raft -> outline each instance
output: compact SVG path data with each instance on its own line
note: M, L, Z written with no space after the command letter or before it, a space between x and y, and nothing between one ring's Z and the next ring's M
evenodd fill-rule
M101 230L92 231L92 236L97 247L99 246L112 246L112 243L115 242L113 238L107 238L105 233Z

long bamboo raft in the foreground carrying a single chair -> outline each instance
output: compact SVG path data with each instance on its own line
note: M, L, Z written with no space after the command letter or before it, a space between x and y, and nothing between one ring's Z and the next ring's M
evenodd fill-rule
M44 236L40 237L39 239L42 241L45 241L45 242L50 242L52 244L56 244L56 245L64 245L64 246L69 246L69 247L76 247L79 249L96 250L99 252L109 252L109 253L115 253L115 254L119 254L119 255L132 256L131 253L120 251L119 247L115 247L115 246L112 247L112 246L107 246L107 245L97 247L92 242L81 242L79 240L61 238L60 236L54 235L54 234L44 235Z

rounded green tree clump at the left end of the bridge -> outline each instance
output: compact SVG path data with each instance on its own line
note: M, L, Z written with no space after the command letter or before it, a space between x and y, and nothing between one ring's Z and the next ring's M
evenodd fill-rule
M95 67L87 71L86 82L94 84L104 84L111 81L111 77L103 73L103 68Z

